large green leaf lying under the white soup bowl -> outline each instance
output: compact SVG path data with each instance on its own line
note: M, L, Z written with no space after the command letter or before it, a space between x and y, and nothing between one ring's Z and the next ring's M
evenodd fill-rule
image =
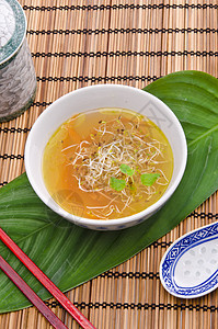
M182 71L161 78L145 90L173 110L188 143L182 182L167 205L150 219L126 230L91 231L48 209L33 192L25 173L0 190L0 226L61 291L124 262L170 231L217 190L218 81L203 72ZM3 245L0 253L42 298L49 297ZM0 273L0 311L28 305Z

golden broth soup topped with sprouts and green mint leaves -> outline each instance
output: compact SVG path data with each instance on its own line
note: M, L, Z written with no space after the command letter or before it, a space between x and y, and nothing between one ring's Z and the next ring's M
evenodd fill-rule
M99 109L73 115L50 137L43 174L51 197L67 212L116 219L144 211L167 190L171 146L139 113Z

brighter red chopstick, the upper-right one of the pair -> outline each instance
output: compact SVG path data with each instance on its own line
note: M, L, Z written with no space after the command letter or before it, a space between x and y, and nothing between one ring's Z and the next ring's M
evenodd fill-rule
M62 292L60 292L60 290L21 250L21 248L4 232L2 228L0 228L0 239L83 329L95 329L95 327L83 316L83 314L62 294Z

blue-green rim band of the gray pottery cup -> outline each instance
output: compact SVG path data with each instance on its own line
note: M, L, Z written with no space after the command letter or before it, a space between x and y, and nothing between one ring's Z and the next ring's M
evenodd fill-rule
M9 42L0 47L0 69L5 67L18 54L26 34L26 18L21 4L16 0L7 0L7 2L14 13L15 29Z

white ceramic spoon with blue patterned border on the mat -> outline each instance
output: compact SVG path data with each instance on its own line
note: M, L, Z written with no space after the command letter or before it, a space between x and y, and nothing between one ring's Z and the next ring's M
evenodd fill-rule
M218 223L177 239L160 263L164 288L181 298L204 296L218 287Z

